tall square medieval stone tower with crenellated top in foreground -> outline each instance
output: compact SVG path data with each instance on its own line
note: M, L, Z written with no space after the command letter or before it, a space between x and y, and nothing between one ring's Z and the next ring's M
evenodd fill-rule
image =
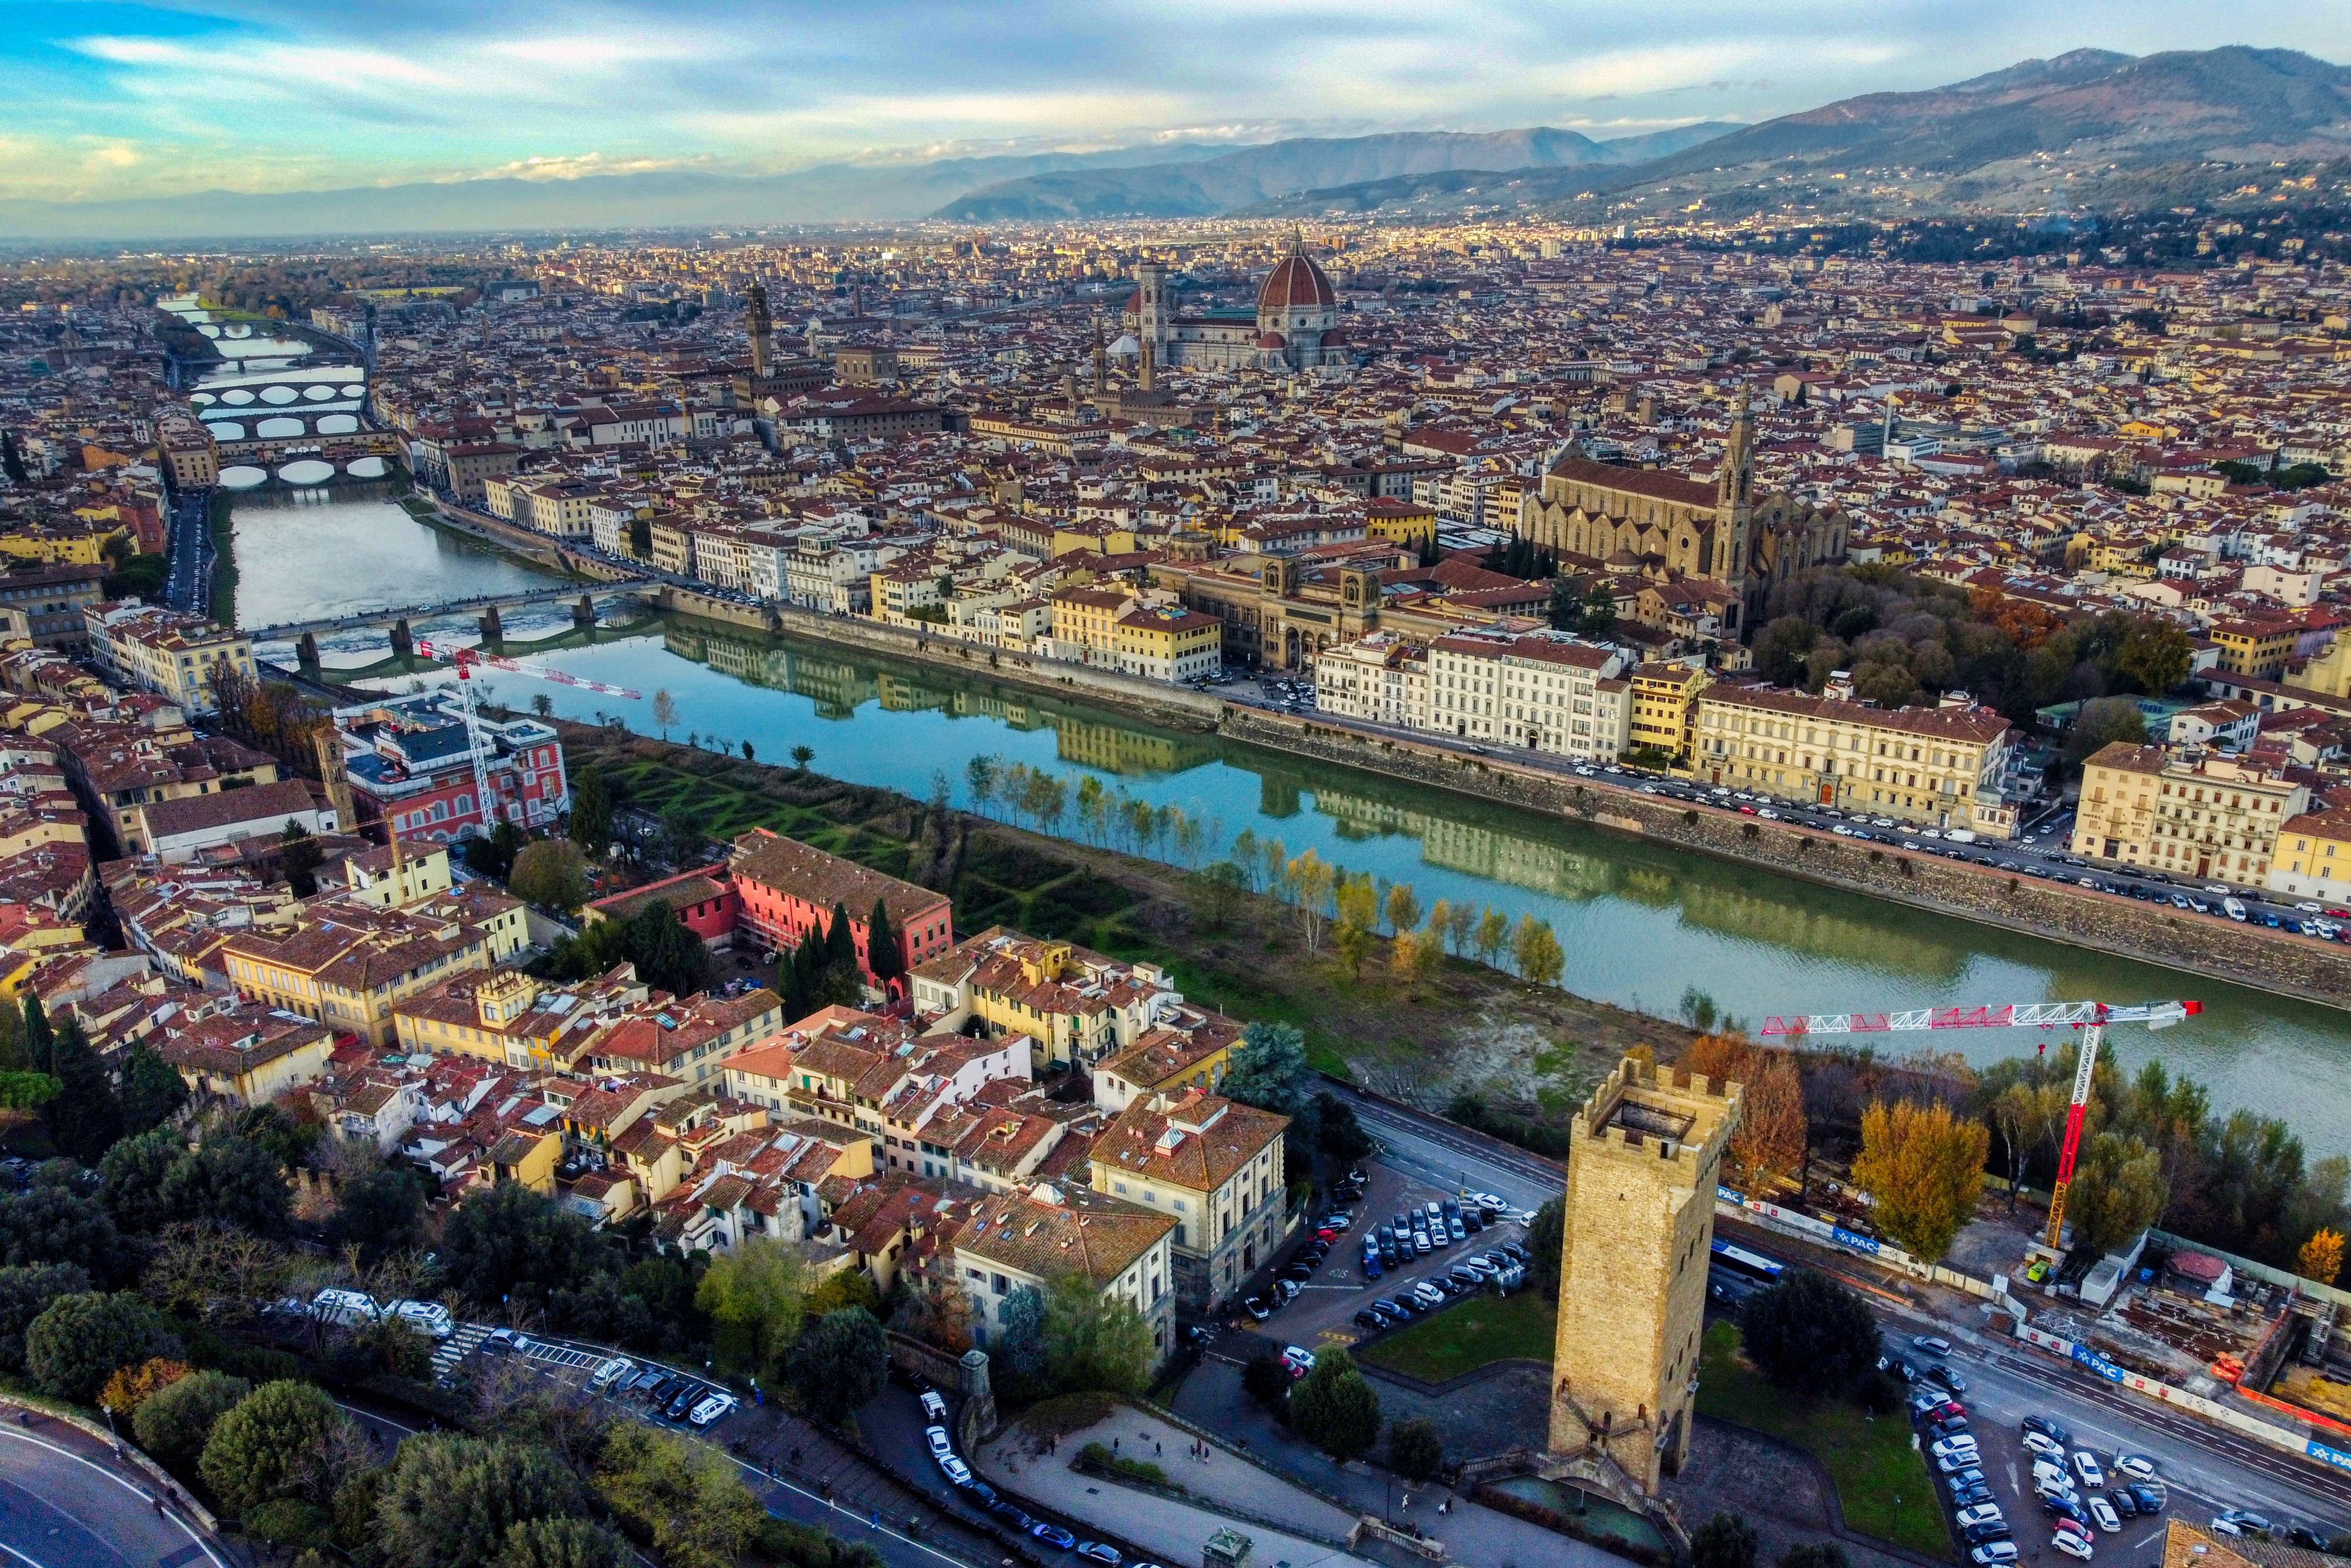
M1740 1086L1625 1058L1575 1114L1552 1356L1552 1453L1655 1495L1690 1448L1714 1178Z

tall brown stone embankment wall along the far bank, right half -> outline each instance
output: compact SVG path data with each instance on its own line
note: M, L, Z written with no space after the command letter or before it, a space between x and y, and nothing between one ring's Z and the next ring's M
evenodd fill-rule
M2231 924L2083 886L2015 877L1923 851L1841 839L1794 823L1683 806L1615 783L1601 785L1512 764L1502 757L1469 757L1302 717L1227 705L1218 733L1291 757L1660 839L1719 860L1869 893L1935 914L1954 914L2090 952L2351 1009L2351 950L2266 926Z

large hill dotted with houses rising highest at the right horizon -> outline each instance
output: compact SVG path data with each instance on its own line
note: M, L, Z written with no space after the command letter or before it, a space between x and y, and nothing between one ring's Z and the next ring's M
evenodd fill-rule
M2076 49L1928 92L1881 92L1751 125L1622 169L1493 165L1338 183L1265 214L1528 205L1559 214L1688 209L1712 216L2034 212L2212 200L2210 165L2320 165L2351 153L2351 71L2292 49L2132 59Z

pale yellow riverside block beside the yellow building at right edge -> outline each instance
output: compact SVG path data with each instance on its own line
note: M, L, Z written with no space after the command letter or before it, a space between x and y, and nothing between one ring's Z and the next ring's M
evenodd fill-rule
M2189 882L2264 886L2309 785L2219 755L2172 755L2116 741L2081 769L2074 853Z

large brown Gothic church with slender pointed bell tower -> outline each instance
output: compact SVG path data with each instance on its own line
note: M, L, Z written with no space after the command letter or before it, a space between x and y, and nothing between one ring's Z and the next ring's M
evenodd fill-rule
M1542 475L1519 531L1561 564L1639 574L1653 583L1716 583L1723 635L1742 637L1770 585L1846 559L1848 520L1782 491L1754 494L1754 418L1740 395L1714 484L1570 454Z

